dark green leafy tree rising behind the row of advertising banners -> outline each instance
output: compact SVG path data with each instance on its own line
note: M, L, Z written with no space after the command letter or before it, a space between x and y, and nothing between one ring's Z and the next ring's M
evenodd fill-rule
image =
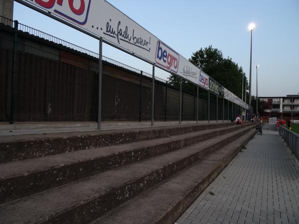
M224 58L222 52L217 48L213 48L211 45L204 49L200 48L192 54L189 61L240 99L242 99L242 78L244 77L245 97L245 87L248 90L249 85L243 68L239 67L231 58ZM179 77L171 74L168 79L171 85L179 87ZM194 89L194 85L186 81L183 81L182 87L189 91ZM249 97L247 97L248 101Z

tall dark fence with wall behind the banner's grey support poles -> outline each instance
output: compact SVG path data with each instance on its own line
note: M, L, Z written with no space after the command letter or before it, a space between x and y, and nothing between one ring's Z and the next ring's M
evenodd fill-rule
M0 17L0 121L96 121L99 54ZM103 59L102 120L150 120L152 75ZM240 107L182 90L182 120L231 120ZM210 99L210 101L209 101ZM179 120L180 91L155 78L154 119Z

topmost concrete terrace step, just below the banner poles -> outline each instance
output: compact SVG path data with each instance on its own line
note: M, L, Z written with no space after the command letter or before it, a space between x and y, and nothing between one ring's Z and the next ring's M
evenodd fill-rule
M226 127L233 124L234 123L185 124L108 131L1 136L0 163L163 138L199 130Z

